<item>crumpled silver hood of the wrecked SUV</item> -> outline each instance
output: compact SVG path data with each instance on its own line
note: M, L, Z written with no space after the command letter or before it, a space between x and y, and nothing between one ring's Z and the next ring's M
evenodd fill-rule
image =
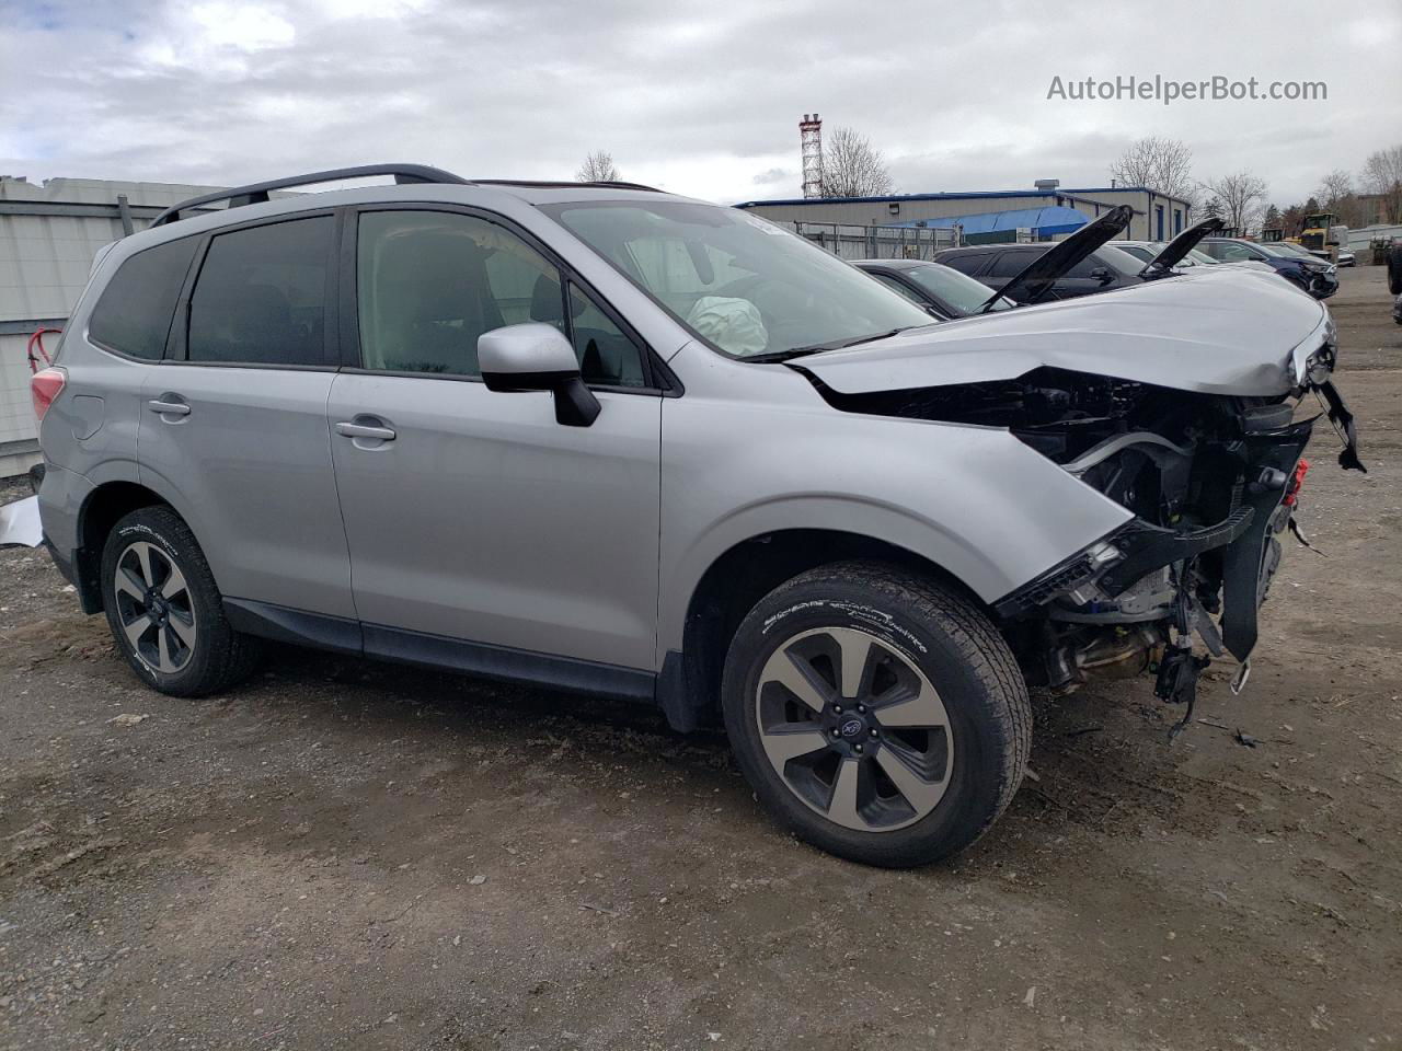
M1203 394L1291 390L1323 304L1273 273L1225 266L1075 300L911 329L791 367L841 394L1012 380L1037 367Z

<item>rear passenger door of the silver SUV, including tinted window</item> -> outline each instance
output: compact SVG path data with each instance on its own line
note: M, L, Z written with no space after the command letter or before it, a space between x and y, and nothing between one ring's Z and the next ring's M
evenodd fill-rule
M224 596L353 617L327 426L334 245L329 213L205 240L143 385L137 462Z

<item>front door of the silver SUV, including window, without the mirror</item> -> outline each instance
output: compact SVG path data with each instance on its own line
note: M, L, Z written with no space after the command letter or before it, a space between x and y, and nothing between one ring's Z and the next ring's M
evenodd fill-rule
M653 670L662 398L637 341L488 217L365 210L348 235L360 367L329 419L367 647L384 626ZM481 383L477 338L526 321L573 341L592 426Z

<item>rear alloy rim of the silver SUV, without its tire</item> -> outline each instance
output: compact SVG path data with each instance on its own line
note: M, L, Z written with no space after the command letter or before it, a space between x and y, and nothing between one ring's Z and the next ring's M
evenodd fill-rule
M179 566L161 548L136 541L116 559L116 618L132 650L164 674L195 653L195 605Z

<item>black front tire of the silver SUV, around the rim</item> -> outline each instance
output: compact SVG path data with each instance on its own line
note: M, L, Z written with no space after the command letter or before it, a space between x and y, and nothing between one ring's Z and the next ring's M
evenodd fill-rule
M878 643L876 661L892 654L904 659L938 691L948 726L937 733L948 733L952 739L946 744L952 761L946 758L948 767L942 776L935 778L942 781L944 795L924 817L916 817L920 811L911 810L911 823L903 827L880 831L845 827L806 803L767 755L765 737L758 726L764 717L761 705L770 703L760 698L763 670L781 646L794 645L795 638L806 638L805 633L823 636L820 629L845 631L848 638L852 631L871 636ZM785 653L789 650L785 649ZM871 660L868 657L866 663ZM833 677L837 674L834 671ZM833 696L841 692L837 689ZM871 710L879 716L882 709L872 703ZM813 717L801 705L789 705L788 710L798 708L803 712L799 717ZM1007 642L987 615L932 579L880 563L823 566L781 584L760 600L730 643L722 706L736 760L760 803L780 824L801 839L841 858L885 867L927 865L973 844L1012 802L1032 747L1026 682ZM841 712L841 708L837 710ZM854 713L855 709L850 709L848 715L837 719ZM869 715L864 717L871 719ZM824 726L824 741L826 734L837 737L841 733L837 724ZM887 737L899 733L889 727L880 727L880 731ZM869 733L873 739L879 736L876 730ZM845 741L840 744L845 747ZM836 750L838 746L831 747ZM868 753L878 747L882 747L880 741L868 743ZM857 764L873 758L872 754L855 757L851 751L845 755ZM831 757L812 753L802 761L820 764L827 758ZM838 757L837 765L845 765L845 761ZM836 796L837 775L833 776ZM857 783L859 775L852 776ZM872 775L865 776L862 783L868 786L866 797L871 800L875 782ZM875 776L879 779L882 775Z

